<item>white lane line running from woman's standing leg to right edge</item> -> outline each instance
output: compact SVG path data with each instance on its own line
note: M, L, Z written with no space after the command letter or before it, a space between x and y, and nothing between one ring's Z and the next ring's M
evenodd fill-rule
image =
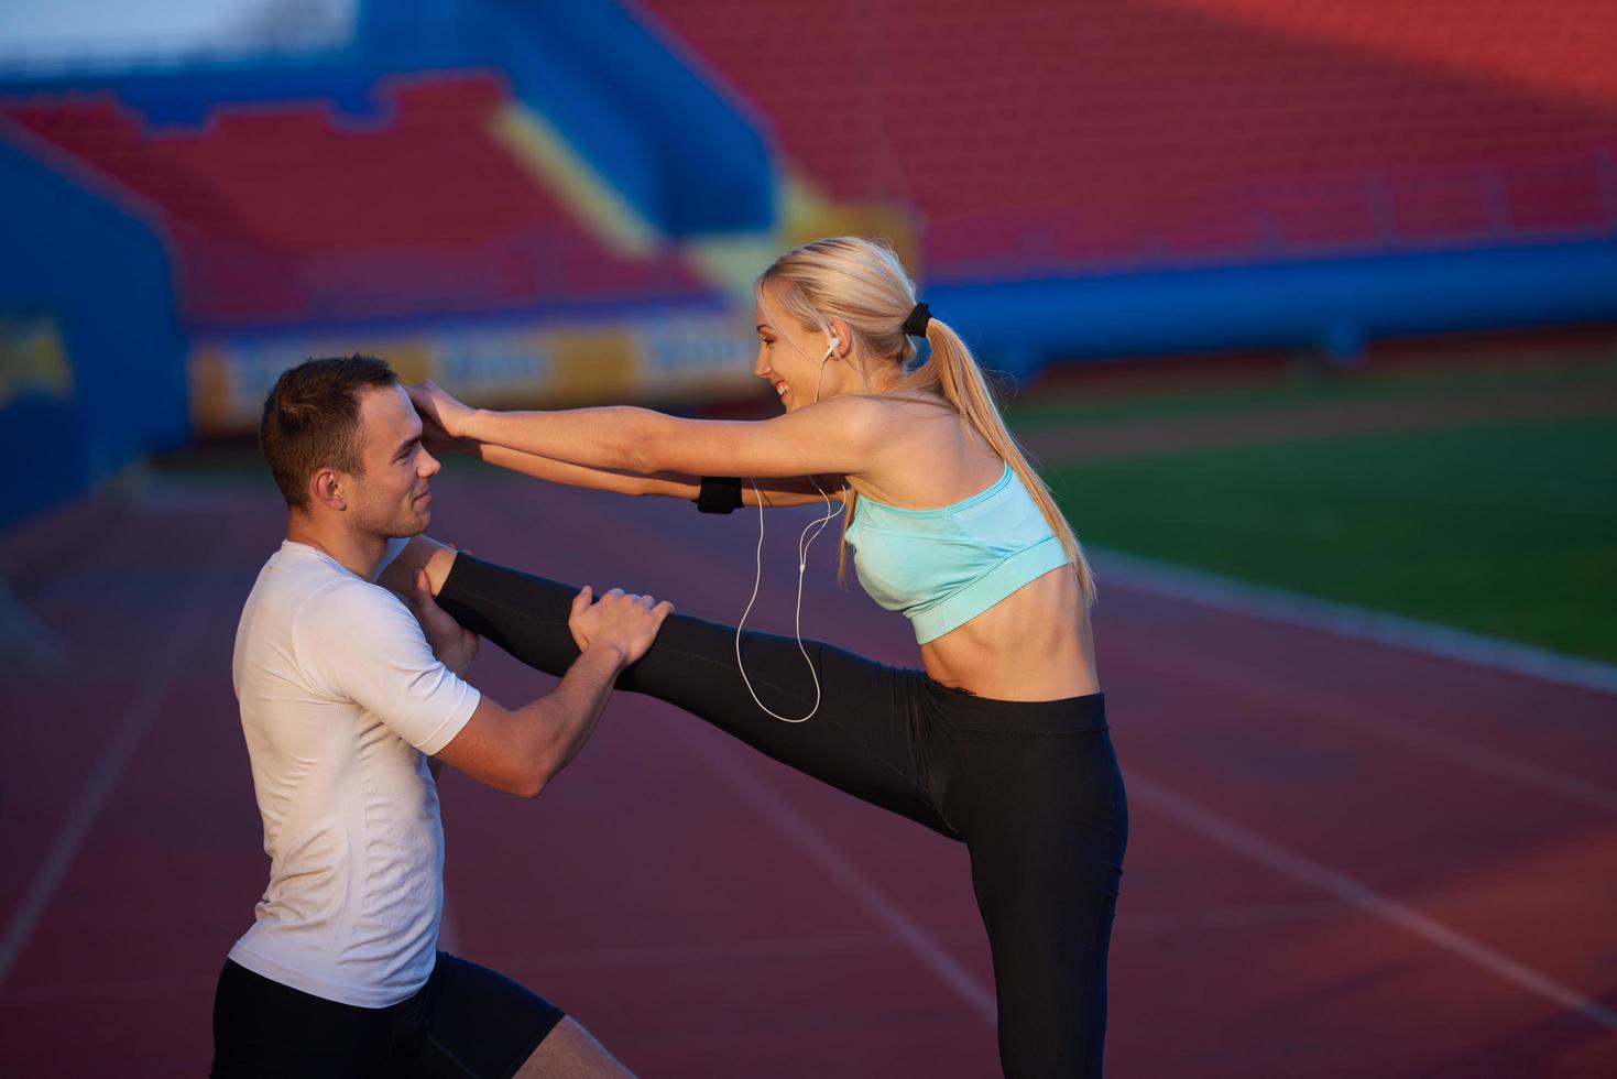
M1429 945L1476 966L1496 977L1523 988L1535 996L1541 996L1567 1011L1573 1011L1590 1022L1607 1030L1617 1030L1617 1011L1606 1008L1583 993L1562 985L1530 966L1489 948L1488 945L1467 937L1465 933L1421 914L1415 908L1386 896L1370 885L1365 885L1345 874L1310 861L1302 854L1287 851L1256 831L1218 815L1206 806L1182 798L1161 783L1156 783L1135 770L1127 775L1129 799L1146 806L1164 817L1190 828L1192 831L1221 843L1232 851L1268 865L1269 869L1290 877L1300 883L1328 891L1349 906L1397 925L1399 929L1420 937Z

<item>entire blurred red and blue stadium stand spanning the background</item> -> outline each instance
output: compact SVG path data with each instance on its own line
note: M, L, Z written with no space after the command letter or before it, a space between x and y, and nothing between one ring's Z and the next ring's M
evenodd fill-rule
M1611 0L369 0L307 55L0 78L0 328L116 411L147 320L173 401L87 484L315 348L734 393L734 304L833 231L1019 377L1609 320L1614 55Z

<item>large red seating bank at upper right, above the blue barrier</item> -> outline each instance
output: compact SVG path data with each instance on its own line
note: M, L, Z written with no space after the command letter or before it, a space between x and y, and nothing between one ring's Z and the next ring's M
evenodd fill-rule
M833 199L914 204L933 278L1617 226L1607 2L640 6Z

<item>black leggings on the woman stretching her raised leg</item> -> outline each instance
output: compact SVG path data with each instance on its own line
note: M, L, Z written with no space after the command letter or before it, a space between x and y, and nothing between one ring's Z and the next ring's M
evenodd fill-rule
M464 626L561 675L576 589L459 555L438 595ZM915 670L804 642L823 699L807 723L752 700L736 629L673 615L618 688L666 700L817 780L918 820L972 856L1007 1076L1100 1076L1106 950L1129 838L1101 694L990 700ZM742 636L758 697L805 715L813 684L791 637Z

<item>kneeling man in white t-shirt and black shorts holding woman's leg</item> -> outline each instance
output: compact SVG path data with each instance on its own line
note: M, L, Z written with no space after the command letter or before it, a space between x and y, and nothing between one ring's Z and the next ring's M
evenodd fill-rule
M462 681L477 637L432 600L374 584L432 516L438 463L388 366L283 374L260 443L286 540L236 631L233 676L270 883L213 1003L213 1076L624 1076L584 1027L493 971L437 951L438 762L537 796L589 739L613 679L671 607L584 589L582 654L514 710ZM429 760L432 759L432 760Z

